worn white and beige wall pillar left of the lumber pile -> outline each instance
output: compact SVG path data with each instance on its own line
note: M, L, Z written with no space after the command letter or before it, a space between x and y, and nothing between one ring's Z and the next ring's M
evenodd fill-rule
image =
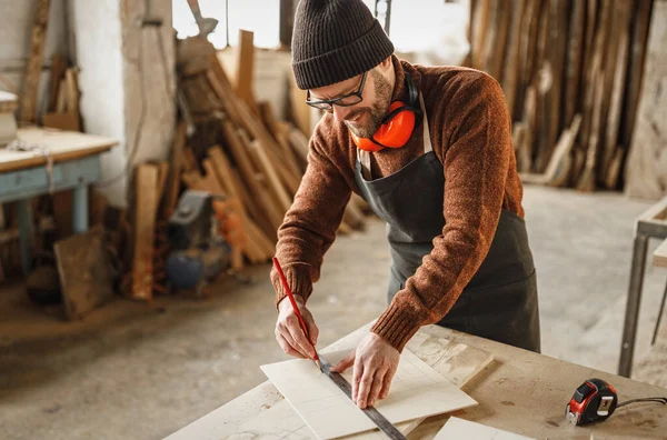
M169 156L176 119L171 0L70 0L86 131L116 138L97 189L127 207L133 166ZM161 27L146 20L161 20Z

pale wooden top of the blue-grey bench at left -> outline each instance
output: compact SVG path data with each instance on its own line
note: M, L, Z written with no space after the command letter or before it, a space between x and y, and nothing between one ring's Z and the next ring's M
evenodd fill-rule
M38 127L20 128L18 138L34 150L14 151L0 148L0 172L42 166L47 163L46 151L54 162L61 162L100 153L118 144L118 140L101 136Z

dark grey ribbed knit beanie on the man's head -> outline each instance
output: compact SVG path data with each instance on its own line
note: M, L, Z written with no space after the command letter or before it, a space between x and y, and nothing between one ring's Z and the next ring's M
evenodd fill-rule
M301 0L292 31L292 69L302 89L345 81L378 66L394 44L362 0Z

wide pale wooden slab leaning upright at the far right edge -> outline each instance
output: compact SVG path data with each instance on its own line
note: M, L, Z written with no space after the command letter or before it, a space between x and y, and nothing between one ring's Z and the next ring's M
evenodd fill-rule
M667 2L656 1L646 52L637 123L626 166L626 193L659 199L667 193Z

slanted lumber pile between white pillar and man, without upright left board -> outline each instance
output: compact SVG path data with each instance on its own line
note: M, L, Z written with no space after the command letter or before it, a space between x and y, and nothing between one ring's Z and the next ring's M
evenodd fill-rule
M245 32L245 31L242 31ZM269 261L277 230L291 206L306 170L308 137L289 121L280 121L269 102L252 97L251 33L240 41L238 80L232 83L215 49L193 37L179 47L178 70L181 110L186 122L178 130L186 188L226 196L239 207L242 228L240 252L251 263ZM248 34L250 33L250 38ZM173 189L172 189L173 190ZM366 206L354 197L339 232L364 227Z

